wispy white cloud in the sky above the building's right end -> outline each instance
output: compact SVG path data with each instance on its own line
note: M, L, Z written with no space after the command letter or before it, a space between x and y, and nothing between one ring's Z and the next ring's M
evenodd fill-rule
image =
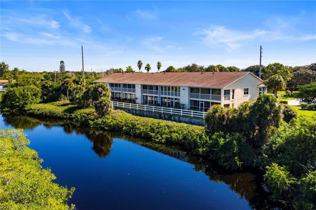
M303 14L304 15L304 14ZM250 31L229 29L221 25L211 25L207 28L195 29L193 36L199 37L210 48L223 47L231 51L249 42L305 42L316 39L316 33L303 33L301 27L309 26L311 31L315 31L315 26L311 26L309 16L275 16L264 22L261 28Z

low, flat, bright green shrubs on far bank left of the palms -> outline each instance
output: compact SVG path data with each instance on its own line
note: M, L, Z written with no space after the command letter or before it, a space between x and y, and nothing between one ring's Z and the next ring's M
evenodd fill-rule
M49 104L32 104L25 108L28 115L37 117L70 118L71 114L78 109L69 101L58 101Z

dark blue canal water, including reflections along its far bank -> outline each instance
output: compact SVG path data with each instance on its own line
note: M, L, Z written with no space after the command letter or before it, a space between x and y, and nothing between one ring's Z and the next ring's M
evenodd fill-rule
M56 182L75 185L70 203L75 203L77 209L277 208L262 189L258 176L228 172L179 147L80 128L68 121L26 116L1 117L1 129L7 128L26 129L30 147L52 168L58 177ZM97 159L86 150L87 142L82 142L81 136L90 142ZM125 176L129 171L136 175ZM204 179L205 175L209 180Z

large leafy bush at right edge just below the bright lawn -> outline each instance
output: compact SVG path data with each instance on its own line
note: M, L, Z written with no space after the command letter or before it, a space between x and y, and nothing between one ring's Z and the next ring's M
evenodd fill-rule
M285 165L291 174L300 177L304 166L316 162L316 115L299 116L276 129L262 148L263 167L276 163Z

